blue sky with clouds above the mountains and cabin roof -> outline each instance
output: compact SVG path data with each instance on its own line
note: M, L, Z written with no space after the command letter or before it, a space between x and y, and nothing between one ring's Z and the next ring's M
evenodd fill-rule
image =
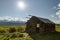
M18 2L24 2L26 8L18 7ZM0 0L0 20L26 20L28 15L48 18L60 23L59 0Z

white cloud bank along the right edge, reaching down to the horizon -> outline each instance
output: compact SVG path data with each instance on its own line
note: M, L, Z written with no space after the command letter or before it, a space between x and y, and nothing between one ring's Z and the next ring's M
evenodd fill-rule
M57 18L54 22L57 23L57 24L60 24L60 3L57 4L57 6L54 6L52 9L56 9L56 13L55 14L51 14L50 16L52 18Z

